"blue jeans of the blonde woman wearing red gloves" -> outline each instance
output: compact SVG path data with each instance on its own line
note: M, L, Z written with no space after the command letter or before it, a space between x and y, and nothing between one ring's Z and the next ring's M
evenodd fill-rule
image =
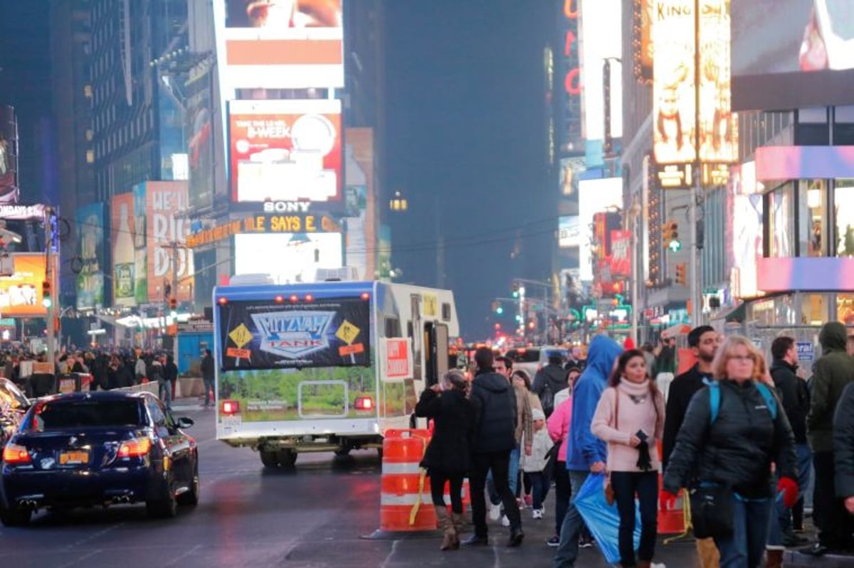
M721 552L721 568L757 568L760 565L772 505L770 498L745 501L734 496L733 534L715 538L715 545Z

